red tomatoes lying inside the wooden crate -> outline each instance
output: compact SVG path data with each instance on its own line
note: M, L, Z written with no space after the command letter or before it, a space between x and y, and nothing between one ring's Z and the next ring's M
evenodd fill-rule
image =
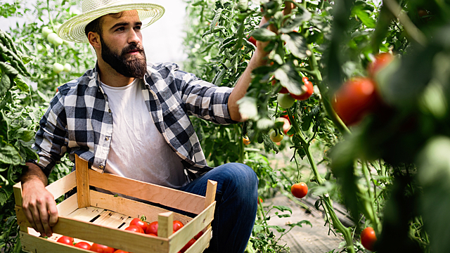
M181 223L181 221L173 221L173 233L176 231L179 231L180 228L182 228L184 225ZM125 228L126 231L131 231L134 233L146 233L147 235L153 235L158 236L158 221L153 221L151 223L148 223L147 221L142 221L139 218L134 218L129 223L129 226ZM182 249L180 249L179 252L183 253L186 252L186 250L191 247L198 238L200 238L203 235L203 231L200 231L197 235L195 235L189 242L184 245ZM61 236L58 238L57 242L63 243L65 245L75 246L79 247L81 249L87 249L91 252L101 252L101 253L128 253L126 251L123 251L122 249L114 249L113 247L108 247L106 245L100 245L98 243L93 243L90 245L87 242L77 242L74 245L74 239L68 236Z

